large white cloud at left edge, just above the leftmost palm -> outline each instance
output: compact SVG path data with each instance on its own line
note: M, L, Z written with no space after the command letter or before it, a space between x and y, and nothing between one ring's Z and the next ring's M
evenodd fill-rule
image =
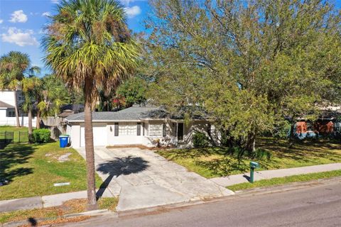
M38 45L38 41L35 37L33 37L32 30L22 31L18 28L9 28L7 33L1 34L2 41L6 43L15 43L16 45L20 45L21 47L26 45Z

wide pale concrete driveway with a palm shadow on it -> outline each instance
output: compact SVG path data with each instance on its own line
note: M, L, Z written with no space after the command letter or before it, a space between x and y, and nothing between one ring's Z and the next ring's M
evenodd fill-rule
M77 149L85 157L85 148ZM117 211L210 199L232 191L140 148L95 148L95 165L107 189L119 196ZM103 192L97 192L102 194Z

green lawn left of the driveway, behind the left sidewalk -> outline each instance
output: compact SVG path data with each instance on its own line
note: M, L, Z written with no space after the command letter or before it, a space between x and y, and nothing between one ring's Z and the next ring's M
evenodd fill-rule
M71 153L70 161L58 157ZM97 187L102 180L96 176ZM43 145L9 144L0 150L0 200L41 196L87 189L85 160L72 148L59 148L58 142ZM54 183L70 185L54 187Z

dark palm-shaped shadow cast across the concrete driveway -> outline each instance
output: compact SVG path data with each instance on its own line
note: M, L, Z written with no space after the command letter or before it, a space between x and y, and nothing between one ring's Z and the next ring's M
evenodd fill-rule
M97 199L103 195L105 189L107 189L109 183L112 181L112 178L119 177L120 175L130 175L132 173L142 172L148 167L148 161L141 157L133 157L130 155L128 157L117 157L115 160L100 164L97 171L109 174L109 177L107 177L99 187L96 194Z

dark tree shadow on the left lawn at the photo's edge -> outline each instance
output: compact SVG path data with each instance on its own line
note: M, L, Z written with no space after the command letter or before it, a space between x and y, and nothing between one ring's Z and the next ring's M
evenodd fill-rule
M31 145L9 145L4 150L0 150L0 181L11 183L14 177L20 177L33 173L32 168L16 167L26 163L34 152Z

